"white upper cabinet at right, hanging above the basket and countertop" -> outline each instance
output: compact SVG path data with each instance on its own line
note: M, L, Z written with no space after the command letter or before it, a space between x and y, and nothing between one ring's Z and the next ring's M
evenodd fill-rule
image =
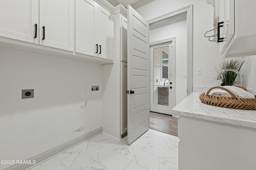
M216 0L222 57L256 55L255 0Z

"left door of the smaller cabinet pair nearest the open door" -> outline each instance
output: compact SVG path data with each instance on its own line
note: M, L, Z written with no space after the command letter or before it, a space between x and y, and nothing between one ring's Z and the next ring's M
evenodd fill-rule
M98 43L98 4L76 0L76 53L96 56Z

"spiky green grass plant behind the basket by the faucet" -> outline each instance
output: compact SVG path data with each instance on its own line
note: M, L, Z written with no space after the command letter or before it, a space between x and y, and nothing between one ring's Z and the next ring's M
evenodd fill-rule
M242 60L229 60L229 61L223 61L220 65L219 65L219 69L215 67L215 70L220 73L222 70L228 69L228 68L232 68L235 69L237 71L240 71L242 66L244 64L244 61ZM236 84L236 77L237 74L235 72L232 71L227 71L227 72L223 72L222 76L221 76L221 80L222 80L222 84L221 86L232 86L233 84Z

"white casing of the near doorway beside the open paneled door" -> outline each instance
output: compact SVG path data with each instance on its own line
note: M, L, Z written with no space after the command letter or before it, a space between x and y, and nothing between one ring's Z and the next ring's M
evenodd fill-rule
M193 5L148 20L149 25L186 12L187 20L187 96L193 92Z

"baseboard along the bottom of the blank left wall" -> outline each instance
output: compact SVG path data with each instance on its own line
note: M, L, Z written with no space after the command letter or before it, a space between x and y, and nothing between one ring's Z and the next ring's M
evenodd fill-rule
M31 160L31 162L33 162L33 160L36 161L36 164L40 164L41 162L43 162L44 160L48 159L48 158L51 158L52 156L60 153L60 152L63 152L64 150L67 150L71 147L74 147L76 145L78 145L79 143L82 143L84 141L87 141L88 139L98 135L102 133L102 127L94 130L94 131L91 131L89 133L87 133L86 135L83 135L81 137L78 137L72 141L69 141L67 143L64 143L63 145L60 145L54 149L51 149L51 150L48 150L42 154L39 154L37 156L34 156L33 158L30 158L28 160ZM32 166L35 166L34 164L19 164L19 165L15 165L15 166L12 166L10 168L7 168L5 170L26 170L27 168L30 168Z

